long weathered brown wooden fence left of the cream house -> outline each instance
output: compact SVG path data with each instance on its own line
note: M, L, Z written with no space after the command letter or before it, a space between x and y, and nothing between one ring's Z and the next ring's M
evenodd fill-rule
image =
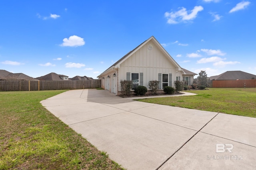
M1 80L0 91L74 90L99 88L101 80L28 81Z

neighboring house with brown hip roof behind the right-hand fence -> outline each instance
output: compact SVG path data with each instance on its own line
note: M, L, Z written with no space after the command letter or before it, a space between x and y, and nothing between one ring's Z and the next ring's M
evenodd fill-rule
M226 71L218 76L209 77L210 80L244 80L244 79L256 79L256 75L243 71Z

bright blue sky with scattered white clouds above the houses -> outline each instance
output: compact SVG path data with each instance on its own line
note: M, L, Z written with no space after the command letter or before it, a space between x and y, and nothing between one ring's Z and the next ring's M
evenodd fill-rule
M255 5L252 0L2 1L0 69L35 78L50 72L96 78L153 35L182 68L197 74L256 74Z

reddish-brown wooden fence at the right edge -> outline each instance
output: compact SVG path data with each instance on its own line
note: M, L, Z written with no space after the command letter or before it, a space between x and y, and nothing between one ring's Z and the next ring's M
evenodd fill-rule
M256 88L256 79L212 80L212 88Z

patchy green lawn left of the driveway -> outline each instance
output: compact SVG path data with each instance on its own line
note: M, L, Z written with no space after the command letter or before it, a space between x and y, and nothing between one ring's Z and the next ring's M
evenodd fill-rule
M0 169L122 169L40 101L65 90L0 92Z

